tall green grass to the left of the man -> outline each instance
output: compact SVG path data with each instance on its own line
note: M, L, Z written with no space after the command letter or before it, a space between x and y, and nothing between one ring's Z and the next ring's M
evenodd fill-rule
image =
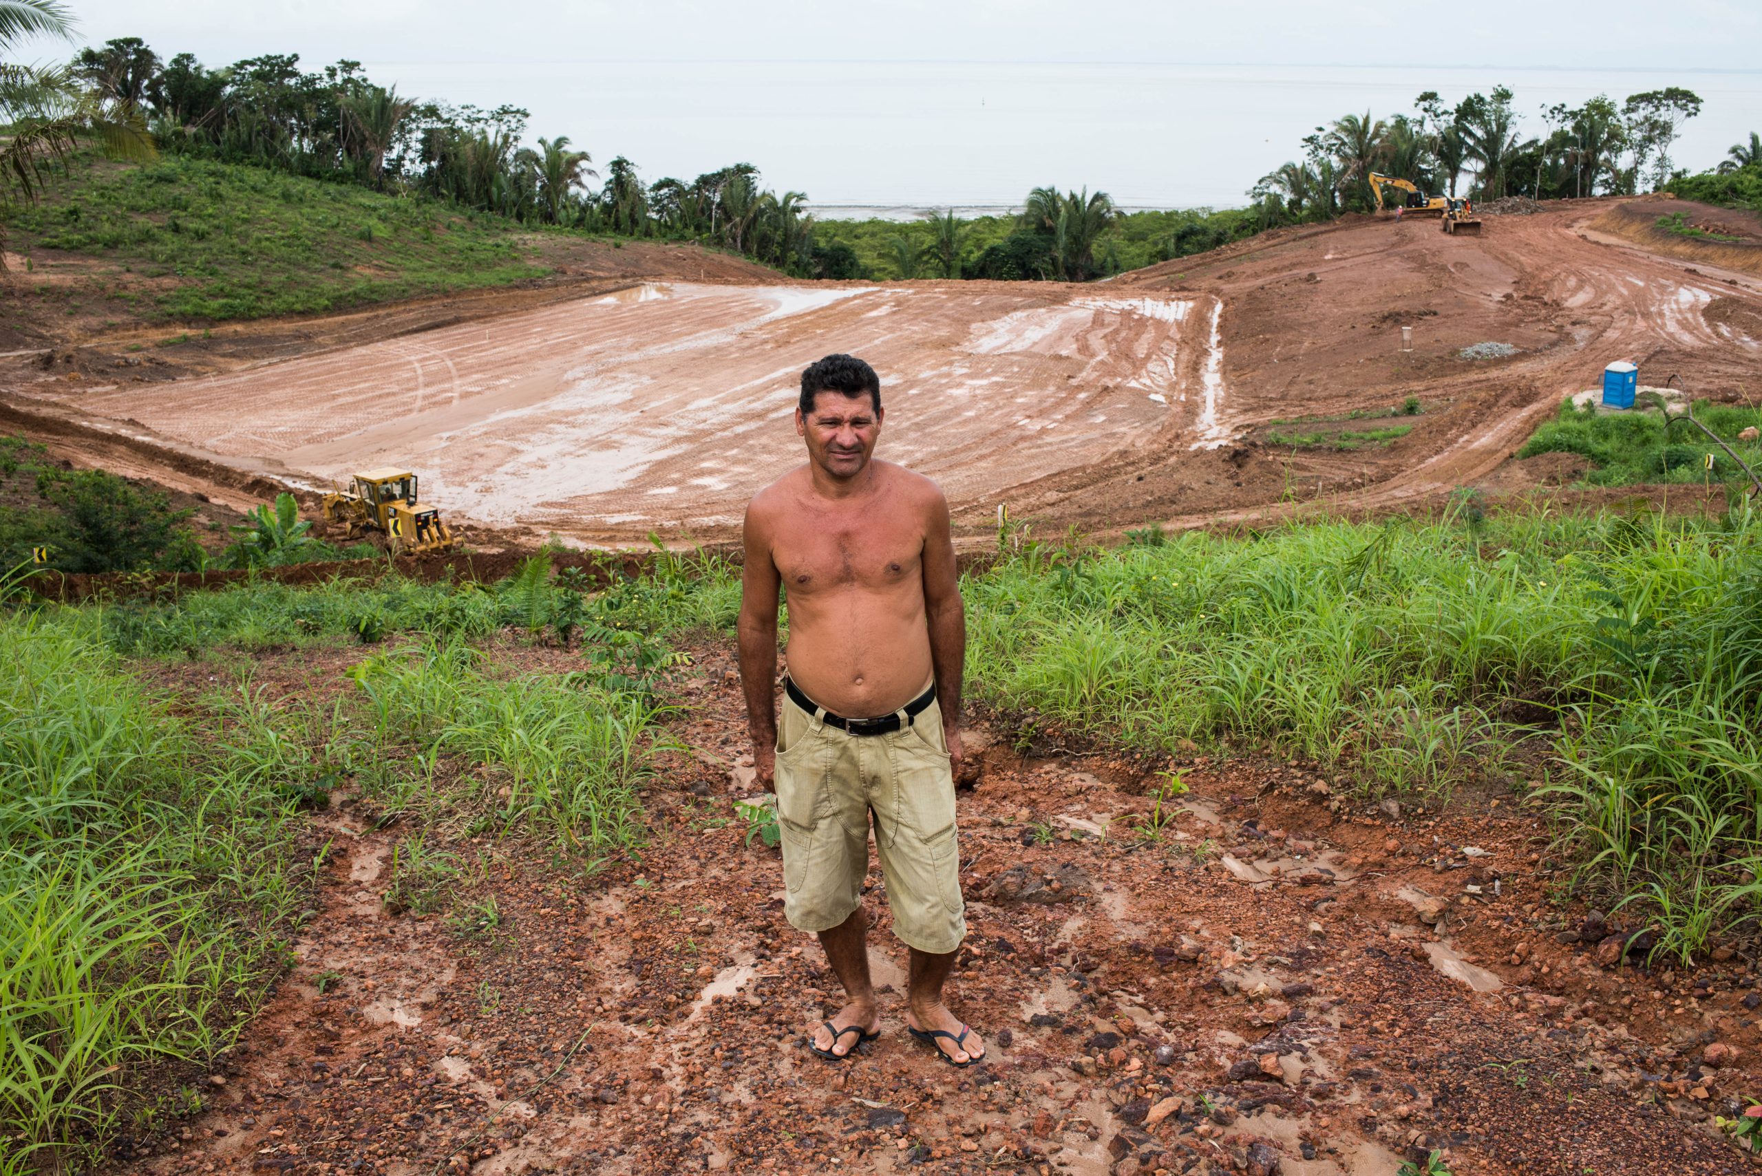
M416 910L439 901L449 836L548 838L589 868L641 847L638 789L671 743L664 636L737 607L724 562L663 556L596 593L534 560L492 586L245 583L0 613L0 1176L95 1164L127 1118L153 1127L130 1095L143 1067L231 1042L308 903L298 810L344 782L421 820L400 850L426 864L395 870ZM580 669L506 673L479 648L502 632L580 637ZM248 674L174 702L125 660L326 643L374 646L328 702Z

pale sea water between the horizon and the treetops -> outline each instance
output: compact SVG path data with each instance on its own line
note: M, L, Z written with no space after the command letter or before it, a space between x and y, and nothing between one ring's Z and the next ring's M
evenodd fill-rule
M368 74L402 93L532 111L603 167L643 180L749 162L823 217L911 218L922 208L1010 211L1029 188L1103 188L1128 208L1230 208L1348 111L1413 113L1510 86L1529 134L1540 111L1607 93L1686 86L1704 99L1672 155L1692 171L1762 130L1762 70L1353 65L1073 65L712 62L400 65Z

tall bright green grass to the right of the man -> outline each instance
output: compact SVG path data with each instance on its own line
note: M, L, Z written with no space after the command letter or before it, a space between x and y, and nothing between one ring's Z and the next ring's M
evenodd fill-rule
M1762 519L1507 514L1027 544L969 577L978 697L1369 789L1533 785L1688 954L1762 912Z

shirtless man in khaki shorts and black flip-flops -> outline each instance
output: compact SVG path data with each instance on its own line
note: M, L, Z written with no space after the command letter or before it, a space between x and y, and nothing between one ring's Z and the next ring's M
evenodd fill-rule
M758 782L775 787L791 926L819 935L849 1002L811 1047L842 1062L881 1032L869 981L869 826L893 933L911 949L906 1028L953 1065L985 1044L943 1003L967 933L955 838L966 611L936 482L874 461L881 382L862 359L802 373L807 465L747 507L740 678ZM777 722L777 588L789 673Z

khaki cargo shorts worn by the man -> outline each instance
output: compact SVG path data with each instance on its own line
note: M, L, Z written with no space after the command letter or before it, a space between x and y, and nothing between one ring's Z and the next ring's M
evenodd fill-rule
M937 956L955 951L967 922L941 708L927 706L911 725L876 736L853 736L819 715L825 711L803 711L784 694L777 827L789 926L828 931L856 910L874 813L893 935ZM906 720L904 711L899 717Z

